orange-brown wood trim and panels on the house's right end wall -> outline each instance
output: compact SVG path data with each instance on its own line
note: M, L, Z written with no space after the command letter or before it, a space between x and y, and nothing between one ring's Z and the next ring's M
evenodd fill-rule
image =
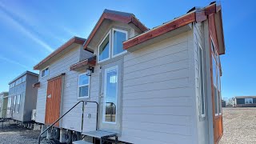
M218 39L215 29L215 22L214 22L214 14L210 14L208 17L209 21L209 42L211 42L211 38L213 38L214 44L216 49L218 50ZM211 46L211 43L209 43ZM210 48L210 65L211 65L211 91L212 91L212 102L213 102L213 118L214 118L214 143L218 143L220 138L222 138L223 134L223 126L222 126L222 115L215 116L215 102L214 102L214 80L213 80L213 66L212 66L212 52Z

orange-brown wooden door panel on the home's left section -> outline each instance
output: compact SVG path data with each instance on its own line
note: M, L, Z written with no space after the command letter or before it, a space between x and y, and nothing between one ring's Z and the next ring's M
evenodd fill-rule
M48 96L51 95L50 98ZM46 125L54 123L60 116L62 76L48 81L46 98ZM54 126L59 126L57 122Z

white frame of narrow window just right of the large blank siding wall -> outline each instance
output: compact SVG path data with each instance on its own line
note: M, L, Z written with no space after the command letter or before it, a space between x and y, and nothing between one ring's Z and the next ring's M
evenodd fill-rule
M202 46L200 45L200 43L198 42L198 58L200 58L200 55L199 55L199 50L202 50ZM198 66L200 66L199 67L199 70L198 70L198 76L199 76L199 78L200 78L200 80L199 80L199 94L200 94L200 114L201 114L201 117L202 118L205 118L206 117L206 91L205 91L205 78L204 78L204 62L203 62L203 59L204 59L204 57L203 57L203 50L202 50L202 55L201 55L201 59L202 59L202 63L200 62L199 63L199 65ZM201 68L201 66L202 66L202 81L201 81L201 70L200 70L200 68ZM203 83L201 83L201 82L203 82ZM202 89L202 90L201 90ZM203 94L201 94L201 92L203 93ZM203 110L204 110L204 114L202 114L202 98L203 98L203 103L204 103L204 106L203 106Z

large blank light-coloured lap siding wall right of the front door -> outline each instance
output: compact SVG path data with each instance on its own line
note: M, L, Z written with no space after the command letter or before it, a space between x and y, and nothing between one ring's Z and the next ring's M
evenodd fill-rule
M189 31L125 56L121 141L196 143L192 45Z

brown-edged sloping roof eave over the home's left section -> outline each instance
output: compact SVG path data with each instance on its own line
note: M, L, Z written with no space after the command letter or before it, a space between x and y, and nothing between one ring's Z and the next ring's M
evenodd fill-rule
M68 46L71 46L73 43L77 43L82 45L86 41L85 38L73 37L70 38L67 42L65 42L62 46L58 47L57 50L54 50L53 53L44 58L41 62L39 62L36 66L34 66L34 70L38 70L39 66L42 66L45 62L48 62L50 58L53 58L55 55L59 54L63 50L65 50Z

